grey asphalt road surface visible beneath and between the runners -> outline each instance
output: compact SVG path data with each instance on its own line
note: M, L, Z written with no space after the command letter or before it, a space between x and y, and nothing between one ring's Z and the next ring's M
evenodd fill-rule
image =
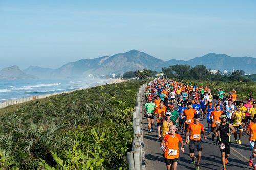
M215 103L216 101L214 101ZM204 119L200 121L203 123L206 132L208 131L207 121ZM163 158L163 152L160 148L160 141L157 137L157 127L156 127L156 117L153 127L153 132L148 131L147 120L143 118L143 134L144 134L144 147L145 147L145 163L147 170L155 169L166 169L166 165ZM176 132L181 134L180 131ZM182 135L182 134L181 134ZM199 164L200 169L223 169L221 164L221 153L219 146L215 145L215 141L211 141L211 136L207 133L207 140L202 139L203 149L201 162ZM185 136L182 135L183 142L185 142ZM215 139L216 140L216 139ZM249 136L244 135L241 139L242 144L234 143L234 136L231 138L231 151L228 158L228 164L226 168L236 170L236 169L253 169L248 165L248 159L251 155L249 148ZM180 158L178 162L177 169L195 169L195 165L191 165L191 159L189 157L189 145L185 145L185 152L180 151ZM195 153L197 155L197 152ZM255 161L254 161L255 163Z

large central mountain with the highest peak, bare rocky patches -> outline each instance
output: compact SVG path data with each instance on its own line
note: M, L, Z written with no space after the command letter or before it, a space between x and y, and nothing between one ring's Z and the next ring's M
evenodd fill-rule
M93 75L121 74L126 71L135 71L138 69L151 69L160 71L162 67L167 66L163 60L157 59L151 55L131 50L126 53L119 53L113 56L104 56L95 59L82 59L76 62L70 62L52 72L53 77L77 78Z

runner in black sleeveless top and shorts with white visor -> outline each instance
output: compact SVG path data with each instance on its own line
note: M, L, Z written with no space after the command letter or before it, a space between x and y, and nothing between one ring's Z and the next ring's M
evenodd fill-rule
M233 125L227 122L227 115L225 113L222 113L221 123L217 124L214 128L214 134L215 136L220 137L220 151L223 170L226 170L226 164L228 163L228 157L231 147L230 138L231 135L234 134L234 132L236 132L236 130L234 129Z

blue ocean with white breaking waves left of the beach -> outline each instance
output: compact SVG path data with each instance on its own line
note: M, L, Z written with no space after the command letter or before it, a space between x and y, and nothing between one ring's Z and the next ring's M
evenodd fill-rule
M0 102L109 83L111 79L0 80Z

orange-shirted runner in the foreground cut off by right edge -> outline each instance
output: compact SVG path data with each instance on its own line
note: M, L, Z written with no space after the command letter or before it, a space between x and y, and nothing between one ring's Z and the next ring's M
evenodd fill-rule
M255 146L255 142L256 142L256 114L254 114L254 121L252 123L250 123L246 129L246 134L250 136L249 140L250 140L250 148L252 151L252 155L249 159L249 165L252 166L253 165L253 158L256 157L256 153L253 152L253 148ZM254 164L254 170L256 169L256 164Z

